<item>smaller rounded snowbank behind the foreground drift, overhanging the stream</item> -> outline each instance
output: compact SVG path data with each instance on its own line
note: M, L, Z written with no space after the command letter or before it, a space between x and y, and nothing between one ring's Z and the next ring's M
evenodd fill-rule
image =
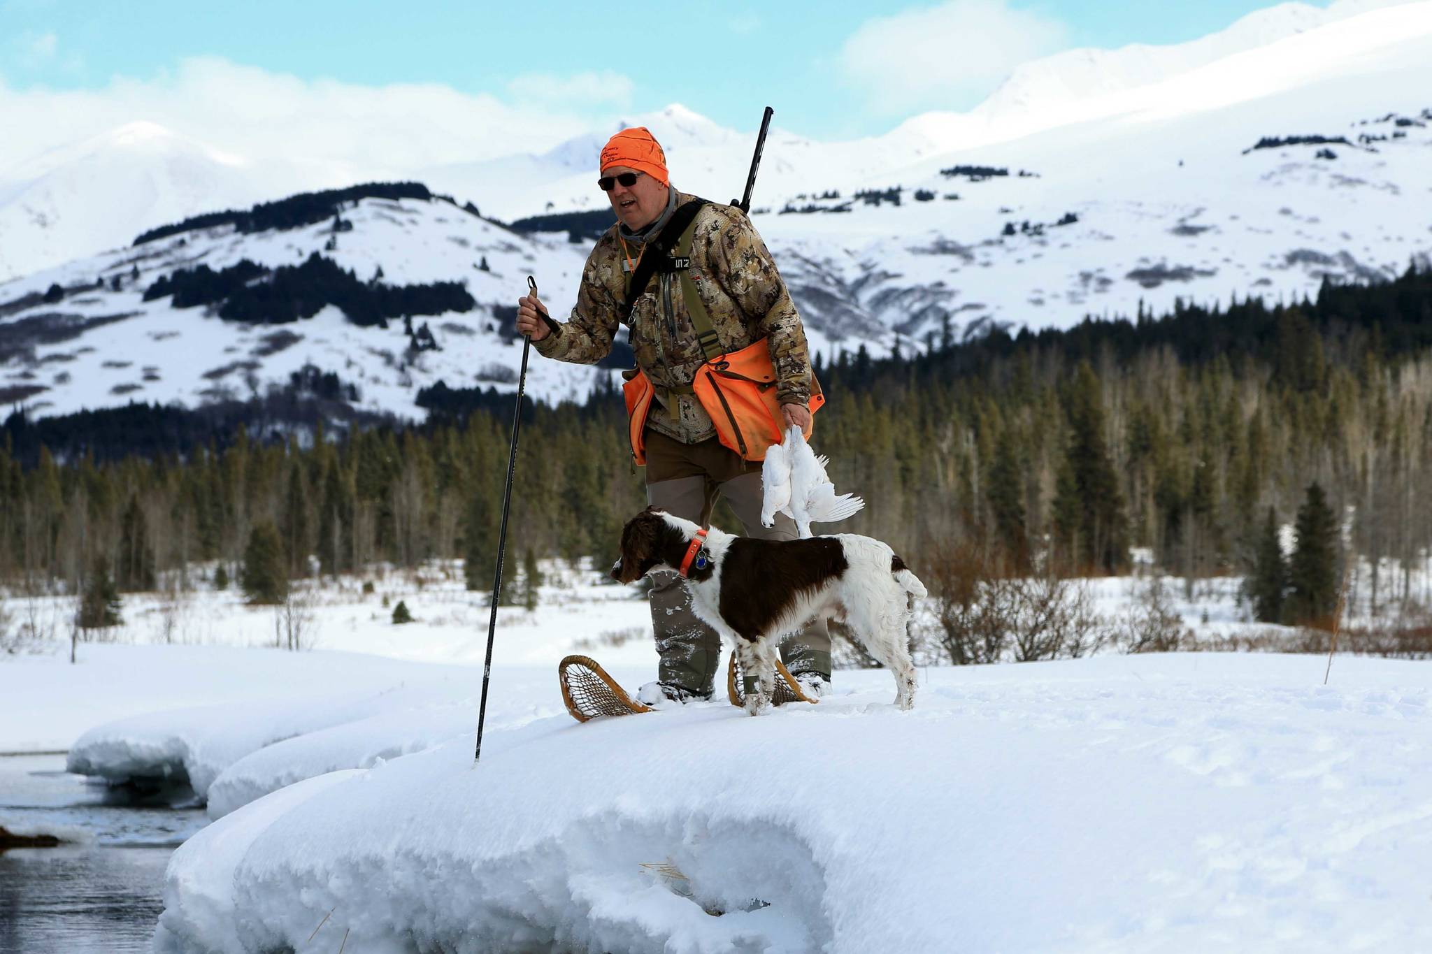
M252 664L255 675L266 677L251 687L258 699L239 697L219 705L106 722L74 741L67 771L110 782L186 781L208 801L209 815L219 818L305 778L368 768L454 737L471 744L477 725L481 669L475 667L415 665L332 652L193 654L209 662ZM169 671L179 675L173 665ZM620 668L616 672L629 675ZM556 667L495 671L488 729L556 714L566 719L556 685Z

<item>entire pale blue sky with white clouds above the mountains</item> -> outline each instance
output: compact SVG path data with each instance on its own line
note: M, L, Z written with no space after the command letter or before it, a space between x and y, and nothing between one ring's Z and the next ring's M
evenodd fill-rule
M0 197L139 122L294 187L544 153L673 103L740 134L769 104L799 136L879 136L972 109L1021 63L1183 43L1264 6L0 0Z

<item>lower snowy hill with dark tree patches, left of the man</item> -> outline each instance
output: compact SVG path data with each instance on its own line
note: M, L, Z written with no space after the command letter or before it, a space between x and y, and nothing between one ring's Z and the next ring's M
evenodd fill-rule
M570 300L583 253L561 240L531 240L441 199L362 199L345 205L351 229L331 220L243 233L233 225L189 230L46 269L0 286L0 400L56 415L129 400L186 406L263 395L305 368L357 388L362 409L421 416L420 388L516 385L520 346L497 330L528 273L553 300ZM219 318L215 306L175 308L145 292L179 269L222 272L241 260L269 270L319 255L362 282L388 286L461 282L467 312L418 315L438 349L410 349L397 318L361 326L328 305L309 319L253 325ZM483 267L485 265L485 269ZM57 300L53 286L63 289ZM49 295L47 295L49 293ZM510 319L508 319L510 320ZM534 360L528 390L581 396L589 368Z

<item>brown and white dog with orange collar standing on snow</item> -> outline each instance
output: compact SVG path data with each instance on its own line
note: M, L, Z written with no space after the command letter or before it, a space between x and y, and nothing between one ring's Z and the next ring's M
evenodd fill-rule
M895 704L915 704L915 665L905 645L909 596L925 585L885 544L855 533L793 541L733 536L647 508L621 529L611 576L636 582L652 569L686 576L692 609L736 649L746 711L770 705L776 646L816 616L843 618L895 677Z

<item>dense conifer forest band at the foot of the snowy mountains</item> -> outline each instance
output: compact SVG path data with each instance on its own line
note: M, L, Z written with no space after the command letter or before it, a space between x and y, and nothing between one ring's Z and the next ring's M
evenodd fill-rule
M1283 305L1180 305L969 340L947 326L816 373L829 403L812 443L836 489L866 501L826 529L878 536L921 575L954 555L988 578L1123 574L1137 554L1187 579L1243 576L1260 619L1326 619L1343 585L1373 605L1429 602L1425 269ZM100 576L123 592L218 561L274 601L294 578L465 558L470 588L487 589L511 396L468 396L447 389L422 425L206 438L155 409L135 441L143 453L96 455L66 419L40 431L16 412L0 438L0 579L82 592ZM581 405L524 408L510 568L609 561L644 502L613 385ZM739 529L723 505L712 522Z

